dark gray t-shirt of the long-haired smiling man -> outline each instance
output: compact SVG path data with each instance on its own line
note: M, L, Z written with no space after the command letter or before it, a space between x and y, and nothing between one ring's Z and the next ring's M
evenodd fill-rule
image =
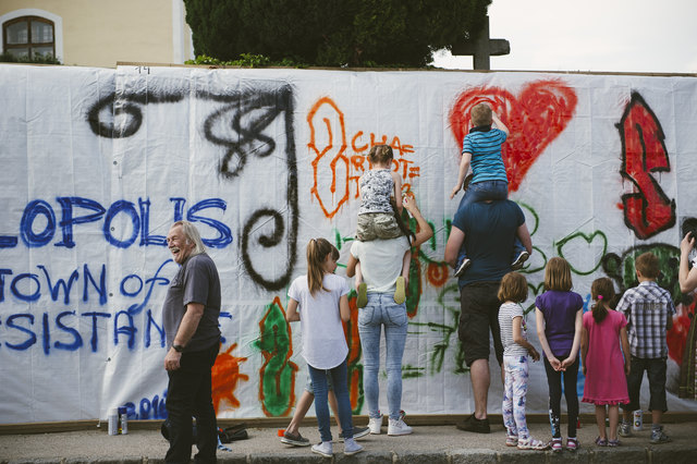
M206 350L220 340L220 279L216 264L205 253L186 259L170 282L162 304L162 326L167 334L168 349L174 343L174 337L189 303L204 305L204 315L184 352Z

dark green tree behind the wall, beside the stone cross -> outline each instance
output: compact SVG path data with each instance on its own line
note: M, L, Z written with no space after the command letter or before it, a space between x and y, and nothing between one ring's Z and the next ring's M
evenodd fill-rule
M475 37L491 0L184 0L197 56L420 68Z

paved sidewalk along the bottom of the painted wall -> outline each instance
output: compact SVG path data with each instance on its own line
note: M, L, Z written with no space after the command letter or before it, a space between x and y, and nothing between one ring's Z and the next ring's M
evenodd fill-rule
M360 423L358 422L358 425ZM534 437L548 440L549 425L530 424ZM565 427L565 426L564 426ZM650 427L650 426L649 426ZM667 424L671 443L652 445L650 430L636 432L622 439L619 448L598 448L592 444L597 436L594 424L584 424L578 430L582 443L575 454L564 451L519 451L505 447L503 426L496 425L489 435L457 430L454 426L416 426L414 434L404 437L369 435L359 440L365 452L343 455L343 443L334 442L333 460L313 454L309 447L293 448L280 442L277 428L249 428L249 439L229 444L232 450L218 452L220 463L697 463L697 424ZM564 430L564 429L563 429ZM313 427L302 427L301 434L319 441ZM335 429L332 429L334 437ZM159 430L131 430L125 436L108 436L106 430L5 435L0 436L0 463L161 463L168 443ZM195 447L194 447L195 450Z

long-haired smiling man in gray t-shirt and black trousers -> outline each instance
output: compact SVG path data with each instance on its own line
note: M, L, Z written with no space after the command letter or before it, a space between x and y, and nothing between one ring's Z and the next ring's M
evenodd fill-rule
M191 222L175 222L167 235L167 245L181 268L170 282L162 305L162 325L169 349L164 368L169 375L170 449L164 462L189 462L193 416L197 430L196 462L215 463L218 426L210 371L220 346L220 279L198 230Z

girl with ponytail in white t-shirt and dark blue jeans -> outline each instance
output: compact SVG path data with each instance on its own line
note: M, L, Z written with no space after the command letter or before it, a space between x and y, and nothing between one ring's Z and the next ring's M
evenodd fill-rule
M296 278L288 291L286 319L301 321L303 357L307 363L315 393L315 414L321 442L313 452L325 457L333 455L329 424L328 378L334 389L339 420L344 437L344 454L363 451L353 438L351 400L346 380L348 345L341 321L351 318L348 284L337 276L339 251L325 239L311 239L307 244L307 274Z

